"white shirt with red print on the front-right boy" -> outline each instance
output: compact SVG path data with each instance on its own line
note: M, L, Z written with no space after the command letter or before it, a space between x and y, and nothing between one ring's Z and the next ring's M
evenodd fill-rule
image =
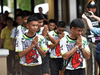
M75 47L76 40L71 39L68 35L60 40L60 49L61 55L63 56L66 52L70 51L73 47ZM82 46L87 52L90 52L88 47L88 43L85 37L82 37ZM65 61L65 64L68 60ZM71 57L68 66L66 69L74 70L79 68L85 68L86 62L85 57L82 54L81 49L77 49L74 55Z

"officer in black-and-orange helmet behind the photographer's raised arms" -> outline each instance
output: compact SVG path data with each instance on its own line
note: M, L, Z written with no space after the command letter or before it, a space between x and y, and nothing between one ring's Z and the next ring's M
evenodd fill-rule
M94 14L96 14L96 11L97 11L97 4L96 4L96 1L95 0L88 0L87 1L87 4L86 4L86 11L84 13L88 15L89 14L89 11L92 11ZM89 17L88 17L89 18ZM91 18L89 18L92 22L93 25L95 26L99 26L98 24L98 21L97 20L92 20ZM90 47L90 53L91 53L91 57L89 60L86 61L87 63L87 75L92 75L92 50L94 50L94 45L95 43L93 43L93 40L91 40L91 38L88 38L89 35L91 35L90 33L90 30L87 26L87 23L84 19L82 19L83 23L84 23L84 29L83 29L83 36L87 38L88 40L88 43L89 43L89 47ZM91 40L91 41L90 41ZM95 64L96 65L96 64ZM97 69L97 68L96 68ZM96 70L97 71L97 70Z

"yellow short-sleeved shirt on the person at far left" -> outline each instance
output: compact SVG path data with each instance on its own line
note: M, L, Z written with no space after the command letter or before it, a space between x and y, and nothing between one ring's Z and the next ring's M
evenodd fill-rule
M13 28L14 27L12 27L12 29ZM5 39L4 44L3 44L3 48L9 49L9 50L14 50L13 46L11 44L11 41L10 41L10 35L12 32L12 29L9 30L8 27L6 26L4 29L2 29L2 32L1 32L1 39L2 38Z

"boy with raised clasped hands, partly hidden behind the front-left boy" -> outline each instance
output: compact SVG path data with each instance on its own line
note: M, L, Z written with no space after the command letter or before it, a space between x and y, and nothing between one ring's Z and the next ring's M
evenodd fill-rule
M47 38L48 37L53 43L56 43L55 39L52 38L49 34L48 34L48 26L45 25L43 27L43 21L44 21L44 16L41 13L36 13L33 16L38 18L38 29L36 34L42 35L45 38L45 44L47 46ZM48 55L48 51L46 53L46 57L42 58L42 74L43 75L49 75L49 55Z

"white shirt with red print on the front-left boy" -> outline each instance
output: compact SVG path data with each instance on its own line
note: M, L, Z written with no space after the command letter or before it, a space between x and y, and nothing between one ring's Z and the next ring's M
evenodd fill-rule
M32 45L32 39L38 36L38 45L43 51L47 51L47 46L45 45L44 37L41 35L35 35L33 37L28 37L26 34L23 34L23 37L21 38L21 46L19 47L19 44L16 44L16 52L21 52L27 49ZM18 43L18 42L17 42ZM28 52L25 56L20 58L20 64L24 66L36 66L36 65L41 65L42 60L41 60L41 55L38 52L36 47L33 47L33 49Z

